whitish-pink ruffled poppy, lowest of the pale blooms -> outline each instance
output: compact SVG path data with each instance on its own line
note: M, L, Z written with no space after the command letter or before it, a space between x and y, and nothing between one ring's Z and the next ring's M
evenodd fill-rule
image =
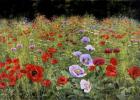
M89 93L91 90L91 83L89 81L82 79L80 81L80 87L81 89L84 90L85 93Z

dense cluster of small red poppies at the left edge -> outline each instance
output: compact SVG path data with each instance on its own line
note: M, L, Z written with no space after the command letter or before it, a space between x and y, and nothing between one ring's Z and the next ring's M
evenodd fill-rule
M0 88L4 89L8 86L15 86L18 79L23 76L18 58L7 58L5 62L0 62ZM5 81L5 80L8 80Z

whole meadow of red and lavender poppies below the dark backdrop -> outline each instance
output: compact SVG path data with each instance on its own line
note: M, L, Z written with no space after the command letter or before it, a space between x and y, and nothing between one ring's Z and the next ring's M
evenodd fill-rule
M0 99L139 100L140 23L0 20Z

